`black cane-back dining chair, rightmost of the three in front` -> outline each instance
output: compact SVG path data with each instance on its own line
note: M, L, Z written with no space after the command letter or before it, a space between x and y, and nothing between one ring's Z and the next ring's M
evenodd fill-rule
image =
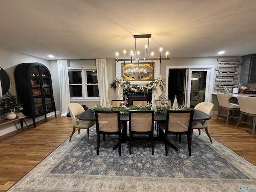
M166 122L159 124L159 137L164 137L165 155L168 154L168 135L187 135L188 138L188 154L191 156L191 129L193 120L193 110L167 110ZM170 143L171 144L171 143ZM173 144L172 144L173 145Z

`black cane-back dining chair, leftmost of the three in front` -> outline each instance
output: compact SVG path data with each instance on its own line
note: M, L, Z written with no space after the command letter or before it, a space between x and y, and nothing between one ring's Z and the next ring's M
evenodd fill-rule
M120 122L120 111L100 111L95 110L96 117L96 131L97 131L97 155L100 151L100 135L103 135L105 141L105 134L118 135L119 155L121 156L121 134L124 124Z

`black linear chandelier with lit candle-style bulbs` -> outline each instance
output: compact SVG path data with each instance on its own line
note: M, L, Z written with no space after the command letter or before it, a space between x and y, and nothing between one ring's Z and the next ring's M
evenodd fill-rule
M133 38L135 39L135 52L134 50L130 51L130 56L128 58L126 58L126 50L124 50L124 58L120 59L118 58L119 53L116 52L116 62L118 61L124 61L124 64L126 61L130 61L132 63L132 61L151 61L153 62L153 60L160 60L160 63L162 62L162 60L170 60L170 58L168 58L168 52L166 52L166 57L162 58L162 48L159 49L159 57L153 57L154 56L154 52L150 53L150 49L149 49L149 38L151 37L151 34L143 34L143 35L134 35ZM140 51L137 51L137 44L136 44L136 39L137 38L148 38L148 44L145 45L145 57L141 58L140 57ZM150 54L150 55L149 55Z

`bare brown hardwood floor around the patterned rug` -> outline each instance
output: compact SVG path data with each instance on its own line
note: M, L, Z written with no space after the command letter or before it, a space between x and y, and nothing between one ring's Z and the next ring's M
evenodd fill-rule
M212 115L208 131L212 138L256 165L256 135L252 135L252 127L240 124L236 128L235 125L235 121L229 121L226 125L224 118L216 120L216 115ZM72 129L70 117L57 116L55 119L51 116L37 122L36 128L30 125L30 130L24 127L1 136L0 192L10 188L62 144Z

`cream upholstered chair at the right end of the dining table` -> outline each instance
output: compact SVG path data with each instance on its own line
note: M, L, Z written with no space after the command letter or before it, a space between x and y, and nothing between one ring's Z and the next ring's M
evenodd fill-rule
M210 102L201 102L198 103L194 109L202 111L208 115L212 114L212 110L213 110L214 104L210 103ZM202 120L202 121L193 121L192 122L192 130L191 130L191 144L192 144L192 136L193 136L193 130L194 129L198 129L199 131L199 135L201 134L201 129L204 129L206 134L208 135L210 142L212 143L212 138L208 132L208 123L210 120Z

